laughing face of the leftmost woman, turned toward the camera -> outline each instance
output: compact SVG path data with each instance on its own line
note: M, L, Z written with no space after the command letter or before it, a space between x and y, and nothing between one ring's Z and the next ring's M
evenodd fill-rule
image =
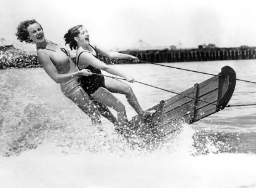
M26 29L28 30L28 34L30 34L30 39L34 43L39 43L45 40L44 31L42 31L42 28L38 23L33 23Z

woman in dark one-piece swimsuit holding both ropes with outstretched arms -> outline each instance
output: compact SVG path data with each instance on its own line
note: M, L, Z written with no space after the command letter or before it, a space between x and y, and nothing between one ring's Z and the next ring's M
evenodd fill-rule
M140 107L130 85L110 77L98 75L101 74L100 69L102 69L110 74L124 77L128 82L134 82L133 77L98 60L97 52L108 58L132 59L138 61L137 57L118 52L111 52L100 47L100 45L91 42L87 30L82 25L74 26L69 29L68 33L65 34L64 39L66 44L70 45L71 50L76 49L76 66L78 66L80 70L89 69L92 73L97 73L82 79L81 84L83 85L84 90L94 100L115 109L118 112L119 125L127 125L126 109L110 92L126 95L130 106L132 106L140 116L146 118L151 115L152 112L145 112Z

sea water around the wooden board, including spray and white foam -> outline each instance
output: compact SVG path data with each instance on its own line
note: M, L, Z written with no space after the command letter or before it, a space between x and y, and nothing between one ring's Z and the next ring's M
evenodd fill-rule
M163 64L211 74L228 65L238 79L256 81L255 60ZM149 64L111 66L174 92L210 77ZM130 85L143 109L174 96ZM136 113L126 98L115 96L131 119ZM1 188L256 187L256 106L183 123L162 143L146 146L127 143L106 119L93 125L40 68L0 70L0 99ZM256 84L237 81L229 104L250 103Z

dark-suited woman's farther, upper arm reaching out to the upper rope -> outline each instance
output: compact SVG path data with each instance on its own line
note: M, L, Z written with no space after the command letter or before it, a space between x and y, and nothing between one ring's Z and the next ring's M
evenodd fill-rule
M133 60L135 62L138 62L140 60L138 60L137 57L134 57L132 55L129 54L125 54L125 53L119 53L119 52L114 52L114 51L110 51L108 49L105 49L104 47L95 44L95 42L93 42L93 45L95 47L95 49L97 49L97 51L102 54L103 56L107 57L107 58L111 58L111 59L130 59Z

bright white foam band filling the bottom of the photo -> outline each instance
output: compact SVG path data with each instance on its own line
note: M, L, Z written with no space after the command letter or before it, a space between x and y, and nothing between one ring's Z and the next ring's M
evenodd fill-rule
M44 144L0 157L1 187L256 187L255 154L193 157L192 129L151 152L63 152ZM119 151L119 150L117 150Z

